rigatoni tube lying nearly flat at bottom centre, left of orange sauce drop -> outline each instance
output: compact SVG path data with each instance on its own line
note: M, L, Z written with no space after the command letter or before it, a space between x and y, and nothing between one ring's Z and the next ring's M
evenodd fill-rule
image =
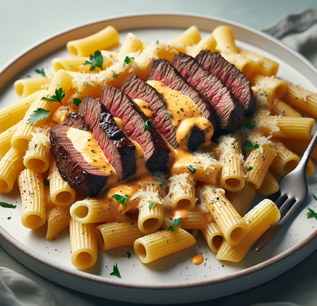
M182 228L161 231L135 240L134 252L139 261L147 264L171 253L184 250L196 243L196 239Z

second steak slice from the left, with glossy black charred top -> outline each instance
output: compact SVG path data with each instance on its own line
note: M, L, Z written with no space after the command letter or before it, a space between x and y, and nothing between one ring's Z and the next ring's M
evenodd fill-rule
M135 145L117 126L110 111L99 100L86 96L78 113L90 127L94 139L120 180L134 175L137 170Z

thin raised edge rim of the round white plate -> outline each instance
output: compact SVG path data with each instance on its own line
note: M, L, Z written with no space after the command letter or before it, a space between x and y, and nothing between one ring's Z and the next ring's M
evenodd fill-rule
M174 13L174 12L150 12L150 13L133 13L133 14L122 14L122 15L117 15L117 16L111 16L111 17L107 17L107 18L100 18L100 19L96 19L93 21L89 21L89 22L84 22L72 27L69 27L67 29L58 31L52 35L49 35L43 39L41 39L40 41L37 41L36 43L32 44L31 46L29 46L28 48L24 49L22 52L20 52L19 54L17 54L15 57L13 57L10 61L8 61L3 67L1 67L0 69L0 78L3 76L3 74L6 73L6 71L13 65L15 64L17 61L21 60L23 58L23 56L25 56L26 54L35 51L36 48L42 46L43 44L45 44L46 42L51 41L52 39L58 38L59 36L63 35L63 34L67 34L70 33L76 29L81 29L81 28L85 28L87 26L90 25L95 25L97 23L100 22L111 22L113 20L118 20L118 19L122 19L122 18L130 18L130 17L150 17L150 16L177 16L177 17L197 17L197 18L204 18L204 19L209 19L211 21L217 21L217 22L223 22L226 24L230 24L233 26L236 26L238 28L242 28L245 29L247 31L253 32L256 35L262 36L265 39L268 39L269 41L277 44L278 46L280 46L281 48L285 49L286 51L288 51L289 53L293 54L295 57L297 57L301 62L303 62L306 66L308 66L317 76L317 69L301 54L297 53L296 51L290 49L288 46L284 45L281 41L275 39L274 37L263 33L261 31L258 31L256 29L250 28L248 26L242 25L238 22L233 22L224 18L219 18L219 17L214 17L214 16L206 16L206 15L202 15L202 14L190 14L190 13ZM132 27L131 27L132 28ZM153 27L152 29L163 29L163 27ZM170 29L171 27L165 27ZM175 29L177 29L177 27L173 27ZM142 26L139 27L135 27L133 29L145 29ZM184 29L184 27L179 27L178 29ZM41 58L48 56L50 53L55 52L57 49L59 49L60 47L55 48L54 50L51 50L49 52L47 52L45 55L41 56ZM36 61L40 60L39 58L36 59L35 61L32 61L31 63L25 65L25 67L23 67L21 70L23 71L24 69L26 69L27 67L33 65ZM12 83L12 79L14 77L16 77L16 75L19 75L21 73L21 70L17 73L15 73L13 76L10 77L10 79L8 81L6 81L5 83L0 84L0 94L3 93L3 89L6 89L7 86L9 84ZM317 84L316 84L317 86ZM12 235L10 235L8 232L6 232L1 226L0 226L0 237L2 239L4 239L5 241L7 241L8 243L10 243L10 245L14 246L16 248L16 250L18 250L19 252L24 253L25 255L27 255L28 257L46 265L49 266L55 270L67 273L69 275L72 275L74 277L79 277L79 278L83 278L85 280L89 280L89 281L94 281L97 283L101 283L101 284L107 284L107 285L114 285L114 286L119 286L119 287L126 287L126 288L136 288L136 289L180 289L180 288L191 288L191 287L198 287L198 286L204 286L204 285L211 285L211 284L217 284L217 283L221 283L221 282L225 282L225 281L229 281L229 280L233 280L239 277L243 277L249 274L252 274L256 271L260 271L263 270L264 268L274 265L280 261L282 261L285 258L288 258L289 256L291 256L292 254L296 253L297 251L299 251L300 249L302 249L305 245L307 245L309 242L311 242L312 240L314 240L317 237L317 229L311 233L310 235L308 235L305 239L302 239L299 243L297 243L296 245L294 245L293 247L287 249L286 251L270 258L267 259L265 261L263 261L260 264L254 265L252 267L243 269L241 271L236 271L233 273L230 273L226 276L222 276L222 277L216 277L216 278L212 278L209 280L205 280L205 281L195 281L195 282L190 282L190 283L181 283L181 284L174 284L174 283L164 283L164 284L157 284L157 285L147 285L147 284L122 284L122 282L120 280L116 280L116 279L109 279L107 277L103 277L103 276L99 276L99 275L94 275L94 274L90 274L88 272L84 272L84 271L80 271L80 270L75 270L73 268L64 266L60 263L55 262L52 259L46 258L43 255L37 253L36 251L33 251L32 249L30 249L29 247L23 245L21 242L19 242L17 239L15 239Z

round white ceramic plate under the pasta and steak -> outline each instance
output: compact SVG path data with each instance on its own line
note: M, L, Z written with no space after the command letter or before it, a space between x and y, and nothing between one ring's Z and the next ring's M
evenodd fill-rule
M0 71L0 89L8 87L0 96L0 107L18 98L13 81L36 77L35 68L48 71L55 57L70 57L65 45L69 40L85 37L113 25L120 31L122 42L128 31L141 41L168 41L184 29L196 25L202 36L215 27L233 27L239 47L262 54L280 64L278 76L307 90L317 92L317 71L301 55L281 42L254 29L226 20L205 16L141 15L101 20L65 30L31 46L10 61ZM42 58L42 60L38 60ZM37 62L36 62L37 61ZM316 176L308 177L309 194L316 190ZM263 196L256 196L253 205ZM149 264L136 258L133 247L98 250L97 263L85 270L75 268L70 261L69 230L64 229L51 241L45 240L47 225L30 230L21 224L21 198L17 184L10 194L0 200L16 204L16 209L0 207L0 245L23 265L36 273L66 287L134 303L188 303L230 295L262 284L287 271L317 248L317 221L306 216L307 206L315 209L317 202L308 196L296 218L261 252L250 252L239 263L220 262L199 234L196 245ZM314 201L314 200L313 200ZM8 220L8 217L11 217ZM126 252L132 257L127 258ZM204 263L191 263L194 255L202 254ZM118 264L122 278L110 276ZM124 287L124 288L123 288Z

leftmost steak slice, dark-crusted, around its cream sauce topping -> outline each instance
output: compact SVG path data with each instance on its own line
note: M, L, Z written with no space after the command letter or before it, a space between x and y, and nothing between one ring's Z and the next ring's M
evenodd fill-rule
M50 129L49 139L52 155L61 178L80 194L87 197L97 196L107 184L107 175L91 166L78 152L67 136L70 127L89 131L84 118L77 113L69 113L66 120Z

